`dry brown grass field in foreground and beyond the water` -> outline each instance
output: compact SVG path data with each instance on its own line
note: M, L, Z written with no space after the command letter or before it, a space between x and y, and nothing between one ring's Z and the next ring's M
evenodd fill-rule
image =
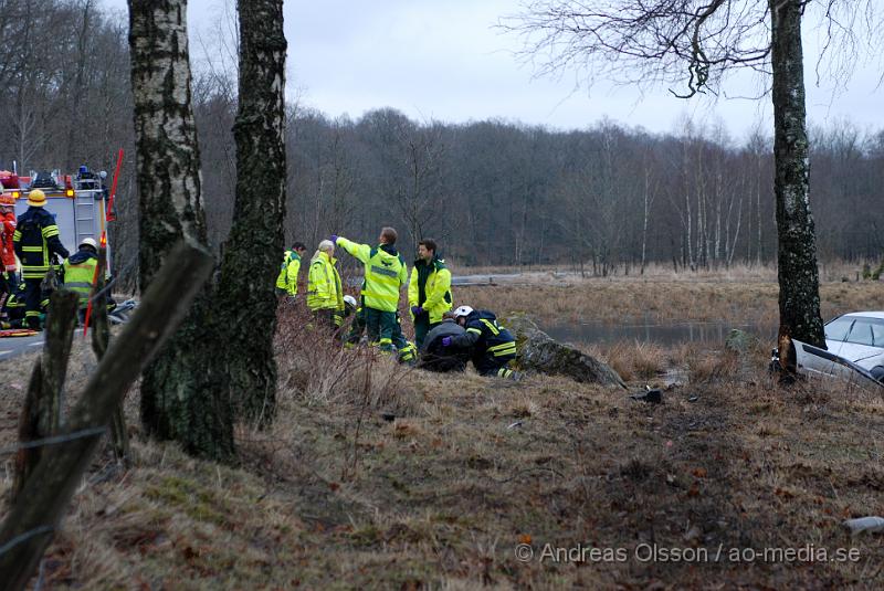
M776 309L776 286L764 281L455 295L544 318L654 309L666 318L677 305L695 318L740 319ZM825 285L823 298L832 314L880 308L881 288ZM96 461L48 553L44 589L884 584L884 538L851 538L841 525L884 515L884 400L842 384L781 390L765 371L766 344L745 357L587 345L632 391L682 368L687 383L662 404L562 378L409 370L317 346L288 312L277 344L280 413L270 431L238 429L240 467L143 440L131 392L135 466L114 472L107 452ZM91 365L77 356L75 383ZM3 447L31 361L0 366ZM581 551L586 560L569 560Z

